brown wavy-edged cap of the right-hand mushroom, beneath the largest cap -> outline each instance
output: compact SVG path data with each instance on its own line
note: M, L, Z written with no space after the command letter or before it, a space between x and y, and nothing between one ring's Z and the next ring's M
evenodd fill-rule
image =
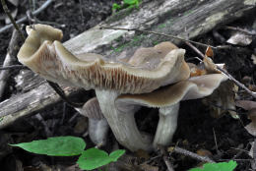
M202 98L210 95L227 77L223 74L203 75L181 81L175 85L160 87L150 93L122 94L115 100L116 106L126 108L133 105L148 107L166 107L181 100ZM124 110L120 108L120 110Z

